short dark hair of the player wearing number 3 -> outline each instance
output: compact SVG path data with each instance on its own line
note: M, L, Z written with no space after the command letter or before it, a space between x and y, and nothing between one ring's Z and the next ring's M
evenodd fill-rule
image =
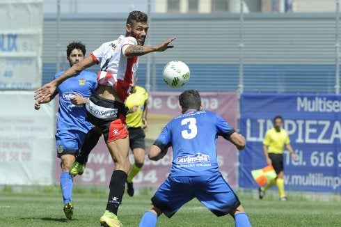
M196 90L187 90L179 95L179 103L182 107L182 113L189 109L199 110L201 107L200 94Z

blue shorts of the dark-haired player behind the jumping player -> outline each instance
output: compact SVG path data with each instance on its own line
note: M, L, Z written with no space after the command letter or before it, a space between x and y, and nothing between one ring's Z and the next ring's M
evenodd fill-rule
M57 157L77 155L86 138L86 133L79 130L58 130L56 133Z

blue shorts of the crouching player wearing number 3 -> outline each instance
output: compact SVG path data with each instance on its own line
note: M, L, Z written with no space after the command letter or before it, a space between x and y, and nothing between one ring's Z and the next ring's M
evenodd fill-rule
M235 192L221 174L168 176L152 197L152 205L170 218L193 198L197 198L218 217L229 214L240 205Z

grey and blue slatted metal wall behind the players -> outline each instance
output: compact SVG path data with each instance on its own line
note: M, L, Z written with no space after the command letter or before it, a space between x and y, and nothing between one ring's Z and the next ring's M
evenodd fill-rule
M124 34L126 17L127 13L63 14L59 19L45 15L43 83L54 75L58 61L65 59L63 49L68 42L81 40L91 52L102 42ZM177 36L177 40L174 49L141 56L139 84L149 91L172 91L162 81L161 72L168 61L180 60L191 69L190 82L182 89L338 94L338 18L338 10L285 14L150 13L146 43L156 45L172 36ZM58 54L56 45L60 47ZM65 60L61 61L61 70L67 67Z

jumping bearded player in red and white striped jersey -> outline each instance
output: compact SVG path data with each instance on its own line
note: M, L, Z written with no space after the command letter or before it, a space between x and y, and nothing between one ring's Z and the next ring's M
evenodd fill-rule
M122 226L118 221L117 212L125 192L127 173L131 168L128 159L129 136L125 124L127 114L125 100L134 86L138 56L150 52L164 52L173 47L170 42L175 40L173 37L160 45L143 47L148 33L148 16L140 11L129 13L125 28L125 36L104 42L83 61L72 65L63 75L35 91L35 100L44 100L54 94L56 86L66 79L74 77L90 66L101 65L97 75L97 88L86 103L86 110L87 120L102 132L114 162L108 202L100 218L101 225L109 227ZM84 170L84 165L81 164L74 167Z

